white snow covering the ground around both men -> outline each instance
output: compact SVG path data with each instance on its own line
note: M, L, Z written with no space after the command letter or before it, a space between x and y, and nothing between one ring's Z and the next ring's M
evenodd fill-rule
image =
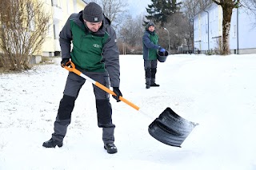
M0 169L256 169L256 57L170 55L157 83L145 88L142 55L120 56L123 97L111 97L118 153L106 153L89 81L72 113L62 148L43 148L54 128L68 71L38 65L0 75ZM199 123L182 148L150 136L148 125L166 107Z

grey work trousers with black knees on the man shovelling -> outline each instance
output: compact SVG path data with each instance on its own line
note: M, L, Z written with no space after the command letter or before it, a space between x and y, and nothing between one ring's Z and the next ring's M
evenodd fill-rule
M86 76L98 81L107 88L110 88L110 80L107 73L86 72ZM70 72L64 89L64 95L60 102L58 115L54 122L54 133L52 138L55 140L63 140L66 136L68 125L71 122L71 113L74 109L74 101L78 97L78 93L86 79ZM104 144L114 142L114 128L112 123L112 108L110 105L110 95L102 89L94 85L94 96L96 99L98 127L102 128L102 140ZM73 105L71 105L73 103Z

